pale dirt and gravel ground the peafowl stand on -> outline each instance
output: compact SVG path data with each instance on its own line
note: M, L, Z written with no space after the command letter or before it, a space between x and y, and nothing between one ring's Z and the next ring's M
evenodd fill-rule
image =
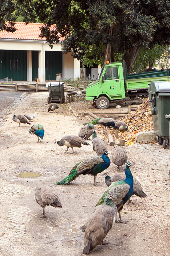
M67 134L77 135L88 118L76 118L75 112L91 109L91 102L83 99L60 105L57 113L48 113L48 93L24 94L16 106L1 114L0 123L0 256L79 256L82 255L84 234L79 230L106 189L104 176L79 176L71 184L55 186L71 168L90 155L92 146L69 149L54 144ZM70 108L71 106L71 108ZM114 106L111 106L112 108ZM126 108L126 106L124 106ZM108 109L109 111L109 109ZM15 114L37 112L32 124L45 127L43 143L28 133L31 125L12 121ZM102 137L102 134L100 134ZM89 140L91 144L91 140ZM108 143L108 142L106 142ZM111 153L112 147L108 146ZM169 256L170 255L170 181L169 148L161 145L137 144L126 147L131 172L141 182L146 198L131 197L123 207L122 219L107 234L108 245L99 245L91 255L107 256ZM111 158L111 154L110 154ZM111 163L110 176L120 170ZM23 173L38 173L39 177L20 177ZM36 184L48 184L58 191L63 208L41 207L35 202Z

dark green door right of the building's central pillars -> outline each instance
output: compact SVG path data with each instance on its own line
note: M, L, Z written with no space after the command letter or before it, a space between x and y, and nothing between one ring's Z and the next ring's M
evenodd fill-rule
M62 52L46 51L46 80L56 80L56 74L62 73Z

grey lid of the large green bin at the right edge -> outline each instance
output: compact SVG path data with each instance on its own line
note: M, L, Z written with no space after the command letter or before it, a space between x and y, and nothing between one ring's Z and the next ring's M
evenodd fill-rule
M149 92L170 93L170 81L153 81L148 88Z

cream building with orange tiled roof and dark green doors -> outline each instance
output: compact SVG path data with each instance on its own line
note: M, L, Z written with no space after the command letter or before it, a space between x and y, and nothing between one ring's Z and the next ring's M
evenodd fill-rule
M80 61L73 59L71 53L63 54L61 44L51 49L45 38L39 38L41 23L16 22L16 31L0 31L0 79L8 77L13 81L40 82L80 77ZM83 69L84 75L86 70ZM100 68L91 69L91 77L97 77Z

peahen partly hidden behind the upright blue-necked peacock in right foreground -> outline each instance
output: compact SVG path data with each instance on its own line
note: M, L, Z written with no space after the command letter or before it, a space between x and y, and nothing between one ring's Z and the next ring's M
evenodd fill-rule
M126 178L125 173L116 173L112 177L108 176L106 173L105 182L109 187L112 182L124 180ZM137 178L133 177L133 195L139 197L146 197L147 195L143 192L141 183L137 180Z

